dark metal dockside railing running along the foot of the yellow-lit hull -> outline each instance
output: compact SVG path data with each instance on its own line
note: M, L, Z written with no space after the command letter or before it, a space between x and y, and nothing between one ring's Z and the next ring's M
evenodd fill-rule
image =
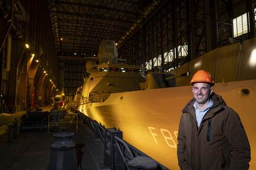
M79 112L79 111L78 111ZM104 143L104 168L109 169L155 169L166 170L167 167L150 156L136 149L123 140L123 132L119 129L105 128L96 120L81 114L84 123L94 132L94 137Z

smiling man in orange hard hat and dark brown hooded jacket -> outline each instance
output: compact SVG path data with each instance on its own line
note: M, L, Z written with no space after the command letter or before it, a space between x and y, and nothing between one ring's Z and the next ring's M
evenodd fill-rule
M213 93L210 73L197 71L191 84L194 99L183 109L178 132L181 170L249 169L246 132L236 112Z

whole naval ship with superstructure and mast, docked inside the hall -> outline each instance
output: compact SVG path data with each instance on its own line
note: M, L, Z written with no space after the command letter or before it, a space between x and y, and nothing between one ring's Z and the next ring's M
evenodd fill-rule
M181 110L192 99L189 85L199 69L209 71L221 95L242 120L256 169L256 38L216 48L170 72L122 63L114 41L102 41L99 64L86 63L89 76L78 88L78 110L171 170L178 170L177 135ZM120 63L121 62L121 63Z

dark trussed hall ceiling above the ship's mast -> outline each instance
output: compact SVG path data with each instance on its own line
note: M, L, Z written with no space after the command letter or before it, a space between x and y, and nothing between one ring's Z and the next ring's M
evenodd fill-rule
M58 55L97 55L102 39L118 45L147 21L163 0L49 0Z

